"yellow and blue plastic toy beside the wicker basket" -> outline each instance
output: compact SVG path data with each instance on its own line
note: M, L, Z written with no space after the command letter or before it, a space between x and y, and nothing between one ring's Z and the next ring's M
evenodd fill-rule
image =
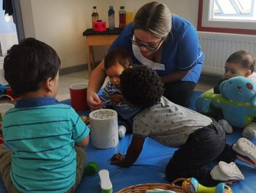
M197 193L203 193L203 192L208 192L208 193L232 193L231 188L228 185L226 185L225 183L219 183L215 187L205 187L205 186L201 185L194 178L191 178L189 180L192 181L192 183L196 187L196 192ZM185 187L188 190L193 190L192 185L190 183L188 183L187 181L184 181L182 183L182 187Z

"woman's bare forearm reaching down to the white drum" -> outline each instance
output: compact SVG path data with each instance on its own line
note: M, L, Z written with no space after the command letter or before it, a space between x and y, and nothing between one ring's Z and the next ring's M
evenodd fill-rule
M104 70L104 59L102 59L100 64L91 73L87 88L87 103L91 110L97 110L102 107L102 102L97 93L102 87L106 77L107 74Z

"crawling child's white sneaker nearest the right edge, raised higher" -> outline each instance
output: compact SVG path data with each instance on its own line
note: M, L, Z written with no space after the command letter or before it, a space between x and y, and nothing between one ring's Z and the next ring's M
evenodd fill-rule
M256 167L256 147L251 141L240 138L232 149L239 154L237 159Z

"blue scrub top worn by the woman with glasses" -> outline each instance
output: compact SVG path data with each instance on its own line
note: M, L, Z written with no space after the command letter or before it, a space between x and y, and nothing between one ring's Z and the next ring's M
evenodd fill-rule
M131 60L134 64L142 65L134 56L132 50L131 38L134 36L132 23L122 31L118 38L113 41L109 48L124 48L131 54ZM161 62L165 65L165 70L156 70L159 76L170 74L175 70L191 70L181 81L192 81L197 83L201 70L203 68L204 54L199 45L199 39L194 26L187 20L173 16L172 31L163 43L163 52Z

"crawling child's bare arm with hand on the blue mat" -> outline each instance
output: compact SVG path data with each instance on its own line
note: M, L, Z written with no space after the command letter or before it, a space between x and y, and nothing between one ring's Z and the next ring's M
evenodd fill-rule
M114 154L111 157L111 164L119 165L120 167L129 167L130 165L133 165L138 159L140 152L143 150L144 141L145 138L133 136L131 139L131 144L127 150L127 154Z

